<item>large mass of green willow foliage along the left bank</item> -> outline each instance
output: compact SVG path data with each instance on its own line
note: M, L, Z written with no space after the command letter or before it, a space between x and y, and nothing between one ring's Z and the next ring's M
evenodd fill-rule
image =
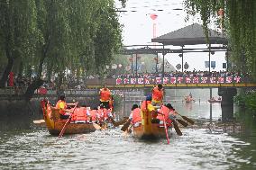
M7 67L1 85L15 58L21 58L23 71L35 67L37 78L28 97L41 85L42 71L49 77L58 73L59 79L67 69L102 73L122 44L114 11L114 0L2 0L0 58L6 58Z

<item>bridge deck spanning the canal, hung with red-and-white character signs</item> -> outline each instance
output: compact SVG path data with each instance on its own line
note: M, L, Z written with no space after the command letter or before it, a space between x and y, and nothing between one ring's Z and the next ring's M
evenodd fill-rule
M107 84L111 89L149 88L157 84L162 84L166 89L256 87L256 83L240 76L171 76L148 78L106 78L104 80L93 78L85 80L85 86L87 89L101 88L103 84Z

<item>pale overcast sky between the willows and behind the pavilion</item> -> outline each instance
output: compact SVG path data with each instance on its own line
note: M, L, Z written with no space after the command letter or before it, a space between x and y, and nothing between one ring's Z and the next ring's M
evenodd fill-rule
M187 13L184 11L183 0L127 0L126 7L122 10L127 12L120 13L120 22L123 24L123 44L124 45L141 45L152 44L153 22L156 23L156 37L176 31L193 22L201 23L198 18L190 17L185 22ZM117 7L121 7L119 2ZM178 10L181 9L181 10ZM152 20L151 13L158 15L156 20ZM193 46L186 46L191 48ZM206 46L194 46L193 48L202 48ZM168 46L169 49L177 47ZM174 67L181 64L181 58L178 54L166 55L169 63ZM208 53L186 53L184 54L184 63L189 65L188 70L208 70L205 67L205 61L208 60ZM224 52L217 52L211 56L211 60L216 62L215 70L223 70Z

